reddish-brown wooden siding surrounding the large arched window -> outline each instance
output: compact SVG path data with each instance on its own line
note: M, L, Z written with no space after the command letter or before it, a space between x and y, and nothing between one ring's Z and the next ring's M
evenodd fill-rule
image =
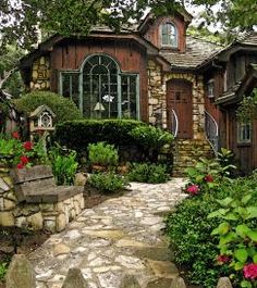
M140 118L148 120L147 109L147 57L146 50L133 40L68 39L53 48L51 53L51 90L58 91L58 73L60 71L79 70L84 60L94 53L112 57L122 72L139 74Z

